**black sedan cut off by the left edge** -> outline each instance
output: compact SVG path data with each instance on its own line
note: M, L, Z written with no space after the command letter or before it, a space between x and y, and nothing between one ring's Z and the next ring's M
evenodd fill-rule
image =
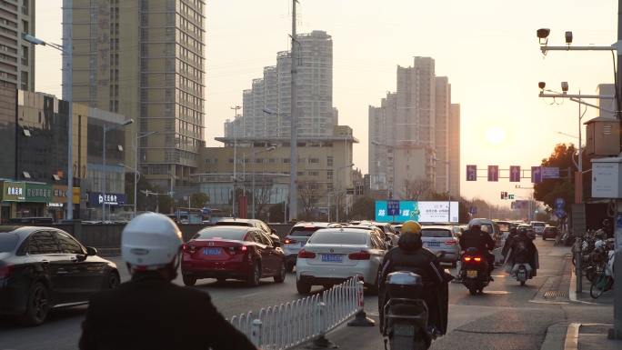
M65 231L42 226L0 226L0 315L41 325L51 309L84 305L90 295L115 288L116 265Z

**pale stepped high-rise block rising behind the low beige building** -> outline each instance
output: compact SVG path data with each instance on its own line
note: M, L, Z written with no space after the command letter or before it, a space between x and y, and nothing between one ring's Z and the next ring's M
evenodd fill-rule
M333 108L333 41L324 31L296 35L296 119L298 135L332 135L336 123ZM285 118L266 115L264 108L291 115L291 53L276 54L276 65L264 68L264 77L253 80L242 94L242 115L225 123L225 136L286 137L290 124Z

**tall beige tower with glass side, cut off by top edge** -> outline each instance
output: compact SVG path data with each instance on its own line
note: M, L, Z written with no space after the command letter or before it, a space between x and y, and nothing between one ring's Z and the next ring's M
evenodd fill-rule
M138 171L152 185L187 185L198 168L205 10L204 0L64 0L63 44L72 37L74 47L73 82L65 71L64 85L73 85L74 102L135 120L125 144L137 143Z

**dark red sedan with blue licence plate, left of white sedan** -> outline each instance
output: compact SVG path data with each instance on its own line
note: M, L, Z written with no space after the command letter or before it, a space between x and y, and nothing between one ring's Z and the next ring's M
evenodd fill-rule
M261 229L247 226L212 226L199 231L184 245L181 262L185 285L197 279L246 281L256 287L259 279L286 277L286 255Z

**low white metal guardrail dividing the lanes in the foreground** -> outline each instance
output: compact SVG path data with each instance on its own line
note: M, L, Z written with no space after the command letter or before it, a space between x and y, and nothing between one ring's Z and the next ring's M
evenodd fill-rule
M363 309L363 282L355 276L341 285L286 305L231 317L236 326L263 350L285 350L326 335Z

